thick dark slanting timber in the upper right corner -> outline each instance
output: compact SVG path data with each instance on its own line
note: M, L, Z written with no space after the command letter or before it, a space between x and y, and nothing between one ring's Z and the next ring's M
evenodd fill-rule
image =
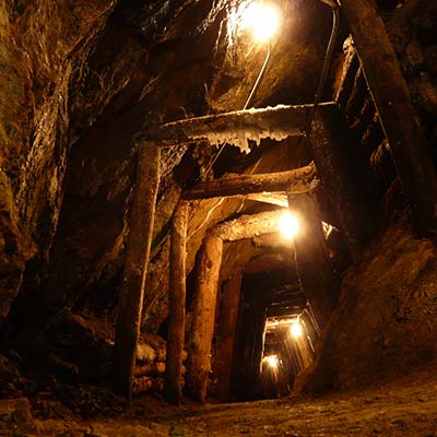
M437 177L397 55L371 0L342 0L359 60L410 204L413 231L437 229Z

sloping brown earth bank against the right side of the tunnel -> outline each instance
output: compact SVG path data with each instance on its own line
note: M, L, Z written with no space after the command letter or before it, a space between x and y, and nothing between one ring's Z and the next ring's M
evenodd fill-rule
M350 269L304 390L355 389L437 357L437 251L393 224ZM302 381L300 381L302 383Z

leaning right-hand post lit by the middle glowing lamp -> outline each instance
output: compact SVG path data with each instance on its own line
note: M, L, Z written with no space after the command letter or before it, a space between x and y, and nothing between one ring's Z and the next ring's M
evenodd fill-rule
M290 196L290 209L299 221L294 238L296 270L300 286L321 328L333 309L335 277L328 258L320 214L310 194Z

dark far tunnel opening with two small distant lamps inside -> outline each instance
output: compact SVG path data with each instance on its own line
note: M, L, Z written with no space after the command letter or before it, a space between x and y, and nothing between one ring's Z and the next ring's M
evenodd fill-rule
M241 281L229 399L286 395L312 363L318 328L293 263Z

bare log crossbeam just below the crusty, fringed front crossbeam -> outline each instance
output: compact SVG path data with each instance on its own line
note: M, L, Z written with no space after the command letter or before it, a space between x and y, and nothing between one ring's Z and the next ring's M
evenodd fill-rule
M184 199L210 199L259 192L306 192L318 186L314 163L290 172L263 175L233 175L199 184L182 193Z

